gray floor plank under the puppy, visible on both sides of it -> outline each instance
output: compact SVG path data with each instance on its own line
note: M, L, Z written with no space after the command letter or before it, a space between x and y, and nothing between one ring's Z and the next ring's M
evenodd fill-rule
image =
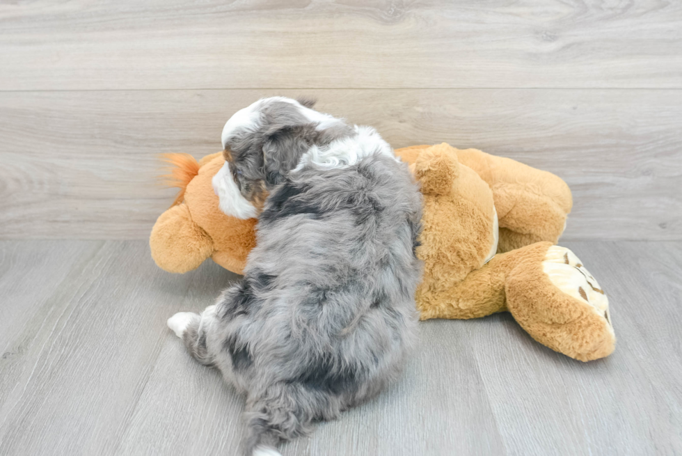
M282 454L505 455L468 337L446 323L422 331L399 383L339 420L319 423L311 437L280 448ZM118 454L237 454L243 408L219 372L189 359L169 332Z

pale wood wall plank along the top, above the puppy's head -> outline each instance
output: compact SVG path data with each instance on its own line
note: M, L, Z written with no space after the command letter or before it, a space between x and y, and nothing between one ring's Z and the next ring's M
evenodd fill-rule
M679 1L0 4L2 90L682 88Z

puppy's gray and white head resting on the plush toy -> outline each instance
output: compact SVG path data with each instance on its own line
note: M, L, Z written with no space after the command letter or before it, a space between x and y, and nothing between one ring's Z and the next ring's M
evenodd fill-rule
M342 120L310 109L313 104L311 100L264 98L225 123L225 165L213 181L223 212L242 219L257 217L269 189L296 168L301 155L325 141L329 131L346 128ZM232 182L223 182L228 178Z

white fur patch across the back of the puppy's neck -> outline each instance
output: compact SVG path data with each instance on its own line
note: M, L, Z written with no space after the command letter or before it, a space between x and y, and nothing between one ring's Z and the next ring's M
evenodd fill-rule
M369 155L379 153L388 155L397 162L400 160L393 155L393 150L381 135L372 127L356 125L354 136L344 137L332 141L322 148L312 146L303 154L299 166L294 171L299 171L307 164L316 164L323 168L344 168L352 166Z

